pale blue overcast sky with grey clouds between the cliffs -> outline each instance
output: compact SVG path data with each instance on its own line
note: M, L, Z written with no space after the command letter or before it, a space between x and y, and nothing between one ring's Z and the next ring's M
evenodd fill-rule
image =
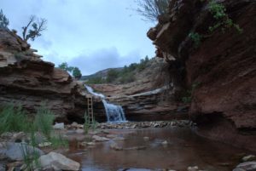
M32 48L55 65L67 62L83 75L154 56L146 36L154 23L141 20L134 0L0 0L9 28L20 35L31 14L48 20Z

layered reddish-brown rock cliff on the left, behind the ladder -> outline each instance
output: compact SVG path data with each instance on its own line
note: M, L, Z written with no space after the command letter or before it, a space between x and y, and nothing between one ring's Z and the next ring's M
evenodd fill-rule
M42 102L55 112L56 121L83 122L86 94L82 83L54 64L41 60L15 33L0 30L0 105L15 103L35 114ZM104 120L103 105L95 99Z

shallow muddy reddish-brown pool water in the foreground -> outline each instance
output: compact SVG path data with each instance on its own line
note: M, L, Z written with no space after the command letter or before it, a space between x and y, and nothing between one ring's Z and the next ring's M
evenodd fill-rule
M113 143L111 140L97 143L90 148L74 148L68 151L67 156L80 162L83 171L113 171L125 168L169 168L185 171L189 166L198 166L207 171L230 171L241 162L241 157L252 154L231 145L201 138L189 128L110 130L111 132L125 137L124 141L115 141L119 146L146 148L115 151L110 148ZM149 140L144 140L145 136ZM164 140L168 141L168 145L162 145Z

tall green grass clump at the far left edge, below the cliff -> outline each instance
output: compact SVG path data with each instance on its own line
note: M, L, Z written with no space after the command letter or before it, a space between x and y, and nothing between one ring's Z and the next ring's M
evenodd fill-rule
M9 104L0 112L0 133L27 131L31 122L28 121L25 111L19 105Z

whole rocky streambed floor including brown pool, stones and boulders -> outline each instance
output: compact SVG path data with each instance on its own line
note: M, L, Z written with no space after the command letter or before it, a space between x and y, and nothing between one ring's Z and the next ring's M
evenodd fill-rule
M241 171L256 167L251 162L255 161L253 151L206 140L194 133L194 123L185 120L99 123L87 134L78 123L57 123L54 128L53 134L61 134L69 143L55 148L36 134L43 170ZM22 132L1 135L1 171L24 168L20 145L29 146L29 141L30 135Z

